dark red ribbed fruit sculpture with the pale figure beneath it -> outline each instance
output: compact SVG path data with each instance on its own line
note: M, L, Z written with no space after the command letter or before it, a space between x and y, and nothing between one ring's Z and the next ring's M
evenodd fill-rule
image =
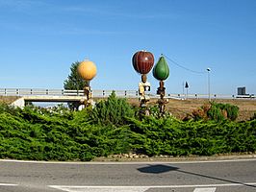
M149 96L145 94L145 91L150 91L150 83L147 82L146 74L150 72L154 65L154 56L147 51L138 51L132 58L134 69L141 74L141 83L139 83L140 94L140 107L142 115L148 115L149 110L147 103L149 102Z

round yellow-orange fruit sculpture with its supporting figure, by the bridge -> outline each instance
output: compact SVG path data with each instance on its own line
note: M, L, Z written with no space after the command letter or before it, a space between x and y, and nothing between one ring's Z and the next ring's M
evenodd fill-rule
M97 74L97 68L94 62L90 60L84 60L80 62L80 64L77 67L77 72L81 76L82 79L84 79L87 84L84 87L84 93L86 96L86 100L83 101L85 107L88 107L92 104L92 94L90 91L90 81L96 76Z

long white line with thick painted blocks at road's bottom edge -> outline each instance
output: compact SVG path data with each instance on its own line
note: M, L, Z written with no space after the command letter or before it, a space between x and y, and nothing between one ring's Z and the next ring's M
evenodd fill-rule
M51 188L67 192L144 192L150 188L195 188L193 192L215 192L216 187L253 185L256 182L247 183L223 183L223 184L191 184L191 185L151 185L151 186L68 186L48 185Z

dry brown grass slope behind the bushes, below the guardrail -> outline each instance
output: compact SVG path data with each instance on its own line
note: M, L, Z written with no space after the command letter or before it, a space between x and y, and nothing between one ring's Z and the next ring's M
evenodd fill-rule
M150 100L149 106L155 105L156 101L156 99ZM238 106L240 108L238 121L248 120L256 112L256 99L215 99L212 101ZM138 99L129 99L129 102L132 105L139 105ZM169 99L168 104L166 104L166 110L171 112L175 117L183 119L187 114L192 114L192 109L200 108L208 102L208 99Z

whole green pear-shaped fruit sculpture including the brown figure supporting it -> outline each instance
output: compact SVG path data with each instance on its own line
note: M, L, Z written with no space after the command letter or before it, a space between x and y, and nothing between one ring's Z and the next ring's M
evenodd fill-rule
M157 90L157 94L160 95L160 99L158 100L158 105L160 109L160 114L164 115L166 103L167 103L167 100L164 99L166 94L166 87L165 87L164 81L169 76L169 68L164 56L161 56L158 62L156 63L156 65L154 66L153 76L154 78L160 81L159 87Z

